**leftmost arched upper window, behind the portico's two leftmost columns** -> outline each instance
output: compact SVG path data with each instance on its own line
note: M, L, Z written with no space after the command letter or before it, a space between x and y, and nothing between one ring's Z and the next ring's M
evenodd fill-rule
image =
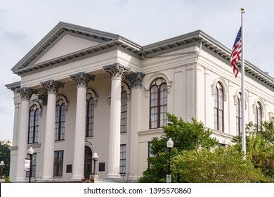
M30 108L28 144L38 143L40 113L37 105Z

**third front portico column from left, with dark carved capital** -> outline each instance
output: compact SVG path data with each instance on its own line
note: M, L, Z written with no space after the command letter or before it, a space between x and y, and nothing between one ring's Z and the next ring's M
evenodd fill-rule
M84 148L85 148L85 115L86 115L86 86L94 75L79 72L70 75L70 80L77 82L77 106L74 136L74 158L72 179L81 180L84 178Z

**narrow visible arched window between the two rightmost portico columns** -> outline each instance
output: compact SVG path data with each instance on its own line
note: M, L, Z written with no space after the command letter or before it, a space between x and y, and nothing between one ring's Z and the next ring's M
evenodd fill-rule
M126 122L127 122L127 92L122 87L121 93L121 133L126 133Z

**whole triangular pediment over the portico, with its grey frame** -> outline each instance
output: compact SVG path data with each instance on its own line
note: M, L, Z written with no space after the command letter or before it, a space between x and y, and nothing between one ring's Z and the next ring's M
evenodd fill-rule
M47 63L52 65L82 54L91 53L85 49L103 46L116 42L118 39L119 35L117 34L60 22L11 70L21 75L44 68L48 65ZM76 55L74 56L74 54Z

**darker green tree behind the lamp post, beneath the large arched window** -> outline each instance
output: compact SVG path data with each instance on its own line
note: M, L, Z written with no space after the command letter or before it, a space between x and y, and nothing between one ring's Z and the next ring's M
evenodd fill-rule
M155 157L148 158L150 168L143 172L139 182L166 182L169 138L174 141L171 158L183 150L191 151L198 147L212 148L218 145L218 141L211 138L209 129L205 129L203 123L197 122L194 118L191 122L185 122L181 117L168 113L167 120L168 124L162 127L164 132L162 136L152 139L151 153Z

